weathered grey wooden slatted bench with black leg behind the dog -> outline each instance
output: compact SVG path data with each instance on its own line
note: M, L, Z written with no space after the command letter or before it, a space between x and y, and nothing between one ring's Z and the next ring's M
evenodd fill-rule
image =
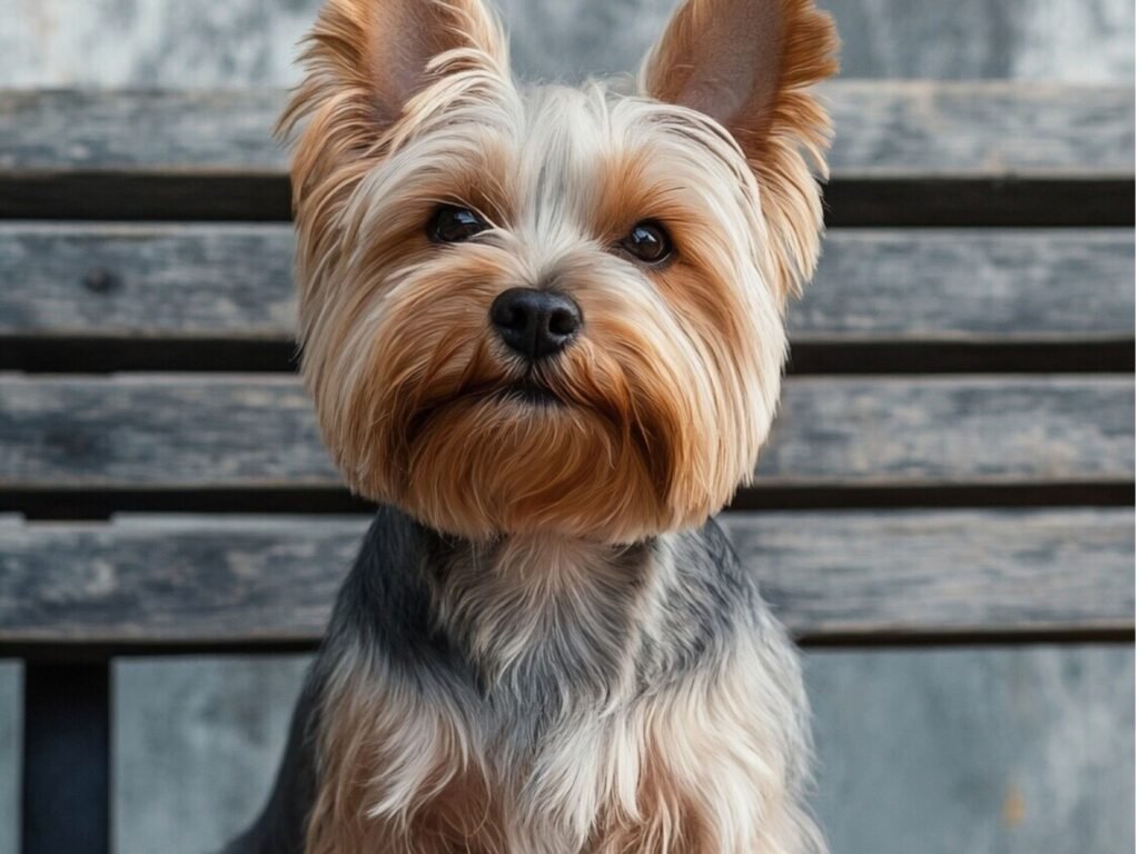
M828 96L831 230L732 540L804 644L1130 641L1132 90ZM281 101L0 93L26 854L108 849L112 657L313 648L367 523L292 376Z

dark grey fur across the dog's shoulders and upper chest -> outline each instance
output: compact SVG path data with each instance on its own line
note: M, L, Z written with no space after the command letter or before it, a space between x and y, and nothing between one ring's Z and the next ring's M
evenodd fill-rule
M314 733L326 681L345 660L379 657L390 671L434 701L497 726L502 749L524 754L567 715L603 706L626 665L637 691L650 693L696 668L713 666L740 631L756 641L786 641L770 621L752 576L744 573L727 537L710 520L698 531L612 548L612 569L622 580L590 602L600 614L581 631L585 615L566 607L559 631L513 664L509 678L473 648L472 621L441 619L441 598L475 585L505 548L441 536L393 508L382 508L364 536L337 600L331 624L294 713L288 747L269 803L254 826L226 854L301 854L312 805L317 761ZM653 588L663 607L652 630L638 622L640 598ZM632 660L622 655L628 652Z

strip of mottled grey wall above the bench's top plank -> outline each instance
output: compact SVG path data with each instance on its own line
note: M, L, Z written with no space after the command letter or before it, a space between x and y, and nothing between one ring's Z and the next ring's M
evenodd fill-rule
M821 0L857 77L1128 82L1129 0ZM36 0L0 17L0 85L292 85L319 0ZM636 67L674 0L500 0L515 66L576 77Z

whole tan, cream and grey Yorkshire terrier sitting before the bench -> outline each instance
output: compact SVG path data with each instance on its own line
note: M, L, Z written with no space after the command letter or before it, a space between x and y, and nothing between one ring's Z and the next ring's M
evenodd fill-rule
M302 373L380 509L235 854L808 854L797 657L712 516L776 412L830 139L812 0L515 84L482 0L327 0Z

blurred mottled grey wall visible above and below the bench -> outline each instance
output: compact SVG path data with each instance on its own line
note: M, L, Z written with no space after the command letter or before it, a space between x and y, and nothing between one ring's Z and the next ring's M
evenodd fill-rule
M570 80L632 69L672 5L499 2L521 76ZM845 77L1134 80L1133 0L820 5L837 19ZM318 6L0 0L0 88L288 87L295 44ZM113 664L118 854L208 851L253 818L306 660ZM1133 849L1129 643L813 647L806 679L819 742L814 804L835 854ZM19 664L0 663L0 854L19 849L21 685Z

